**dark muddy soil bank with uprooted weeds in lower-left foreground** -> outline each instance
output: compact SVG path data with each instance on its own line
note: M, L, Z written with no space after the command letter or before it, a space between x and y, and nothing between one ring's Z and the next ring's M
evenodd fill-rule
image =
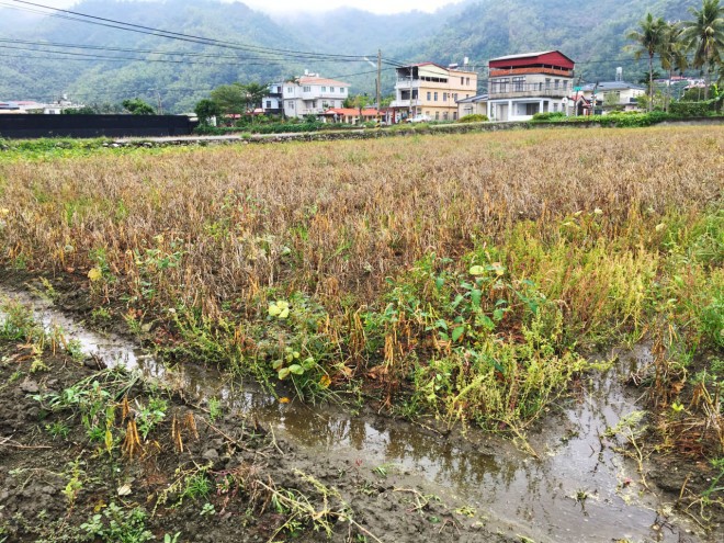
M132 410L160 398L162 420L133 457L120 440L109 453L78 412L50 411L36 398L89 378L132 382L129 374L110 377L88 367L92 360L38 358L24 344L4 342L0 352L0 541L165 541L179 533L172 541L312 542L327 539L325 527L338 542L520 541L409 474L374 471L365 459L319 461L240 412L211 423L208 409L140 382L127 393ZM121 435L123 400L112 404L109 426ZM192 477L174 486L183 474L202 474L205 490L189 490ZM105 527L95 535L87 528L94 516Z

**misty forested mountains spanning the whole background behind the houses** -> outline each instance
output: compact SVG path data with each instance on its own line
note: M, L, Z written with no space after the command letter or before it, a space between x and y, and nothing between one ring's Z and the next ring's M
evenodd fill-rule
M468 0L435 13L375 15L346 8L276 19L219 0L86 0L71 8L105 20L234 42L236 48L149 35L139 26L118 30L101 19L89 24L68 13L42 16L27 7L7 7L13 3L0 5L0 100L50 101L67 93L86 103L137 97L157 105L160 98L166 111L182 112L218 84L271 82L305 69L351 82L352 93L372 93L375 70L360 55L374 61L377 49L386 60L403 63L470 57L483 76L482 88L488 58L555 48L577 61L584 81L611 79L616 66L635 80L645 67L623 50L626 33L647 11L667 20L687 19L687 8L701 0L599 0L591 5L577 0ZM39 42L95 48L41 47ZM393 86L391 66L385 64L385 92Z

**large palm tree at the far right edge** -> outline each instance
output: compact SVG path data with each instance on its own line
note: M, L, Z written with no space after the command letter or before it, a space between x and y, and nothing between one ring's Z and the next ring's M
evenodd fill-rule
M724 7L719 0L703 0L701 10L689 8L693 21L682 23L681 38L693 50L694 68L705 67L704 100L709 99L711 75L717 65L722 64L724 52Z

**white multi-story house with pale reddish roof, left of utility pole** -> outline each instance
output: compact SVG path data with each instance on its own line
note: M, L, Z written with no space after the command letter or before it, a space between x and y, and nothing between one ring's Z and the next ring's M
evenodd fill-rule
M349 83L325 79L318 73L305 73L284 82L282 98L287 117L320 115L329 108L341 108L349 97Z

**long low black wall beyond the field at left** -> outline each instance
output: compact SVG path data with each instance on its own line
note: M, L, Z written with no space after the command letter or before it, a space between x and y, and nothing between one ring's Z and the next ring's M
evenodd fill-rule
M159 137L191 134L184 115L0 115L0 137Z

